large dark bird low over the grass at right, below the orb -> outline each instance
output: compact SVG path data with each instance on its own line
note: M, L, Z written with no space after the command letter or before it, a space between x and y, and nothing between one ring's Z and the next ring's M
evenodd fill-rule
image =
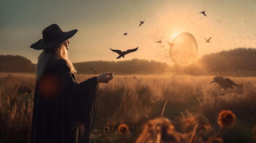
M214 77L213 81L211 81L211 83L213 83L213 82L218 83L220 86L222 86L224 88L224 90L222 91L222 93L220 95L224 95L224 91L227 88L234 88L233 86L240 86L240 85L235 84L233 81L231 81L231 79L224 78L224 77Z

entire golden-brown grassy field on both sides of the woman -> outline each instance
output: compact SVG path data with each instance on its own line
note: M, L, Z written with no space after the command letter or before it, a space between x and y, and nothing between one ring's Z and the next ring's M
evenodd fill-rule
M78 82L95 75L76 75ZM92 143L134 143L149 119L166 117L175 130L184 132L183 119L203 114L219 130L218 113L231 110L236 124L223 131L224 142L254 142L256 120L256 77L228 77L243 87L227 89L210 84L214 76L114 75L109 84L99 84L97 117ZM36 76L26 73L0 74L0 143L28 143ZM19 87L32 92L21 92ZM26 90L23 89L23 90ZM29 91L30 92L30 91ZM120 135L117 128L126 124L130 133ZM109 131L104 130L110 128Z

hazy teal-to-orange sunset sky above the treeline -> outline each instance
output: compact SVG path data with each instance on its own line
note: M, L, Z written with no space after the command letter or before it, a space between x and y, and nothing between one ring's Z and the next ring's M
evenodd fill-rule
M78 29L70 38L72 62L138 58L173 64L165 41L172 42L183 32L195 37L197 59L222 50L256 47L255 7L256 0L4 0L0 55L21 55L36 63L42 51L29 46L42 38L43 29L56 23L63 31ZM204 37L211 37L210 43ZM154 42L159 40L163 42ZM120 59L109 49L137 46L138 51Z

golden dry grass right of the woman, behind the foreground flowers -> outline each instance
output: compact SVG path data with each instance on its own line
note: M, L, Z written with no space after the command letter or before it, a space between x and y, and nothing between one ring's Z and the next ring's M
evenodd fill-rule
M225 139L234 143L252 142L251 130L256 119L255 78L230 78L244 86L227 89L226 95L221 96L222 87L210 84L212 76L116 76L109 84L100 85L95 128L108 126L115 133L117 125L126 123L136 138L141 131L141 123L160 117L164 111L164 117L174 120L180 132L184 128L181 120L196 114L204 114L213 129L218 130L218 113L232 110L238 117L237 124L234 130L224 131ZM98 136L94 137L97 141Z

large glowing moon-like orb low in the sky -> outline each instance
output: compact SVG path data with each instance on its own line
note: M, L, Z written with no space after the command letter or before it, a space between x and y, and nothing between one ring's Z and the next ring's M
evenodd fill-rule
M171 59L178 66L189 66L198 54L198 44L190 33L180 33L169 44Z

